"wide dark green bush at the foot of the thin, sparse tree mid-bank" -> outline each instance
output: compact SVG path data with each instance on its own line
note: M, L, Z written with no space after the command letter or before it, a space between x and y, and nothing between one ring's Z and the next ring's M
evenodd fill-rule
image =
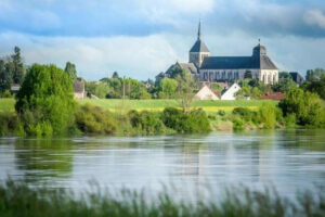
M167 127L178 132L197 133L210 131L209 118L200 108L183 113L174 107L166 107L161 119Z

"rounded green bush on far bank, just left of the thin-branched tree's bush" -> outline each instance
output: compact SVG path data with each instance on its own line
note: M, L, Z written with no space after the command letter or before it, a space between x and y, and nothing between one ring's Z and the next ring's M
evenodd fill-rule
M129 118L132 127L145 135L154 135L165 132L166 127L156 113L143 111L141 113L135 110L129 112Z

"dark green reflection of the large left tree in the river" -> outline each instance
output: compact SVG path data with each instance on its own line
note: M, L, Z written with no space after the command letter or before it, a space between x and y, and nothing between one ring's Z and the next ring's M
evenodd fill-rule
M25 170L28 181L40 178L68 177L73 170L73 142L70 140L17 140L16 165Z

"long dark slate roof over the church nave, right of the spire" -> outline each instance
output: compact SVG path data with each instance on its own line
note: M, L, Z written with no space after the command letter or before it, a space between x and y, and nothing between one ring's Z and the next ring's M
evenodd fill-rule
M268 55L260 56L207 56L200 69L277 69Z

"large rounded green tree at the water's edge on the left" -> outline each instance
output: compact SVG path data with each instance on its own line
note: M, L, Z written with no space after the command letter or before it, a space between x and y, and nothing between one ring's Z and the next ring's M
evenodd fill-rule
M74 126L72 79L54 65L32 65L16 95L15 108L27 133L48 135L48 125L53 135L67 132Z

